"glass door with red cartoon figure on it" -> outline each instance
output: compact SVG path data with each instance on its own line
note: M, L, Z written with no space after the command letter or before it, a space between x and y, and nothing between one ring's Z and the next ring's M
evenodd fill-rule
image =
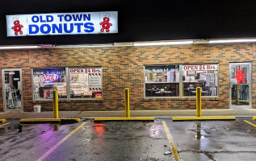
M229 64L230 108L251 108L251 64Z

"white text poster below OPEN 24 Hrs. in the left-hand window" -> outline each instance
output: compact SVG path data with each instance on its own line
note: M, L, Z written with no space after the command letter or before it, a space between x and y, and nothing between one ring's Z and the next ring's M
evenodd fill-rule
M89 73L89 91L99 92L102 91L102 80L100 72Z

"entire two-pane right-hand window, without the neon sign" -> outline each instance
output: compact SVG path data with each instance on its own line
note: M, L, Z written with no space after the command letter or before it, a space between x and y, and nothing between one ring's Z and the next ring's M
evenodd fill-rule
M181 75L182 74L182 75ZM218 96L218 64L145 66L145 97Z

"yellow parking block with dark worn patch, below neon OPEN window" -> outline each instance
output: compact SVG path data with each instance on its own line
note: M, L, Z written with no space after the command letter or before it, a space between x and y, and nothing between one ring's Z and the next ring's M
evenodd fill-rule
M27 118L20 119L20 123L36 124L36 123L76 123L80 122L80 118Z

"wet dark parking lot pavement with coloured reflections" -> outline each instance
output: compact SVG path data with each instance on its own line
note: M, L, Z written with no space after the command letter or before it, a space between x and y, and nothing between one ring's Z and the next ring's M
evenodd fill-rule
M156 118L155 122L84 120L85 125L23 125L19 119L8 119L9 124L0 124L0 159L175 160L164 121L180 160L255 160L256 128L244 120L256 124L251 117L211 122L172 122L171 118ZM77 131L70 134L73 130Z

